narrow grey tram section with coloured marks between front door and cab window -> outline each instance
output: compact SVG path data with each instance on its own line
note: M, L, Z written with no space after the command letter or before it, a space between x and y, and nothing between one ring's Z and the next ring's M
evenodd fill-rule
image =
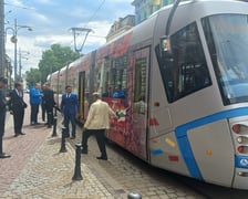
M148 121L149 163L166 170L190 176L177 143L175 134L177 117L173 115L170 104L167 102L167 94L162 76L163 72L159 70L155 53L159 38L165 34L167 18L168 11L166 10L158 14L154 31L154 45L152 48L153 70L151 70Z

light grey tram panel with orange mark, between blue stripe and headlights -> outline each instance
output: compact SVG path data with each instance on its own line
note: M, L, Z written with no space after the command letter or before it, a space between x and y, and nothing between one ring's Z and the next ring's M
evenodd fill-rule
M235 151L226 119L188 130L188 140L203 179L229 187L234 177Z

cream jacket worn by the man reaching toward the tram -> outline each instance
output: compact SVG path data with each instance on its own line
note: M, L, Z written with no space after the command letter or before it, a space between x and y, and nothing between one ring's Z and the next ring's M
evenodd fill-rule
M97 100L94 102L89 111L84 128L86 129L108 129L110 116L115 116L107 103Z

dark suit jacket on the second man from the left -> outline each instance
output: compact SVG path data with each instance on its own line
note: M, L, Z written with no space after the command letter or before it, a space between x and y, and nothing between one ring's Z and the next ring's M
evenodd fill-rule
M23 101L23 91L20 92L19 96L17 90L10 92L9 109L12 112L22 111L27 107L25 102Z

